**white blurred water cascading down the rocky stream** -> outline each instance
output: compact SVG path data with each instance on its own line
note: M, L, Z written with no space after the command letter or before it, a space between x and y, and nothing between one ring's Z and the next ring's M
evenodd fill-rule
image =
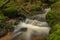
M46 22L45 16L49 10L50 8L47 8L45 9L45 13L34 15L30 18L27 18L25 22L20 22L17 26L15 26L12 39L31 40L32 34L43 34L43 36L46 37L49 34L50 27Z

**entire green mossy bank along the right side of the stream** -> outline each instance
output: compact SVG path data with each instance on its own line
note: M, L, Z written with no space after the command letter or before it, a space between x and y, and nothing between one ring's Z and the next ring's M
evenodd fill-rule
M60 1L51 6L46 19L52 28L47 40L60 40Z

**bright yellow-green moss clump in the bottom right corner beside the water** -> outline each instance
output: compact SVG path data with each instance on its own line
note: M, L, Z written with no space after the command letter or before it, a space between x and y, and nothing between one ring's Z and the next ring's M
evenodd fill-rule
M60 39L60 24L53 26L51 34L48 36L47 40L59 40Z

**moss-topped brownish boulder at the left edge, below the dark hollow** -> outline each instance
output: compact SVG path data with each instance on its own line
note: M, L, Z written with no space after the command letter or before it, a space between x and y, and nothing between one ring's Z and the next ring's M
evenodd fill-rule
M0 37L4 36L8 32L8 29L6 29L6 27L8 27L8 26L5 23L7 21L7 19L8 18L6 16L4 16L3 13L0 13Z

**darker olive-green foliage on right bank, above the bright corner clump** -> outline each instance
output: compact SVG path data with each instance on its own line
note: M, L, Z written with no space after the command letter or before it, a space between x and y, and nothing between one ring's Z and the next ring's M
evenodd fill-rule
M60 1L54 3L51 6L51 11L48 12L46 19L47 19L47 22L49 23L49 25L51 25L51 26L60 22Z

